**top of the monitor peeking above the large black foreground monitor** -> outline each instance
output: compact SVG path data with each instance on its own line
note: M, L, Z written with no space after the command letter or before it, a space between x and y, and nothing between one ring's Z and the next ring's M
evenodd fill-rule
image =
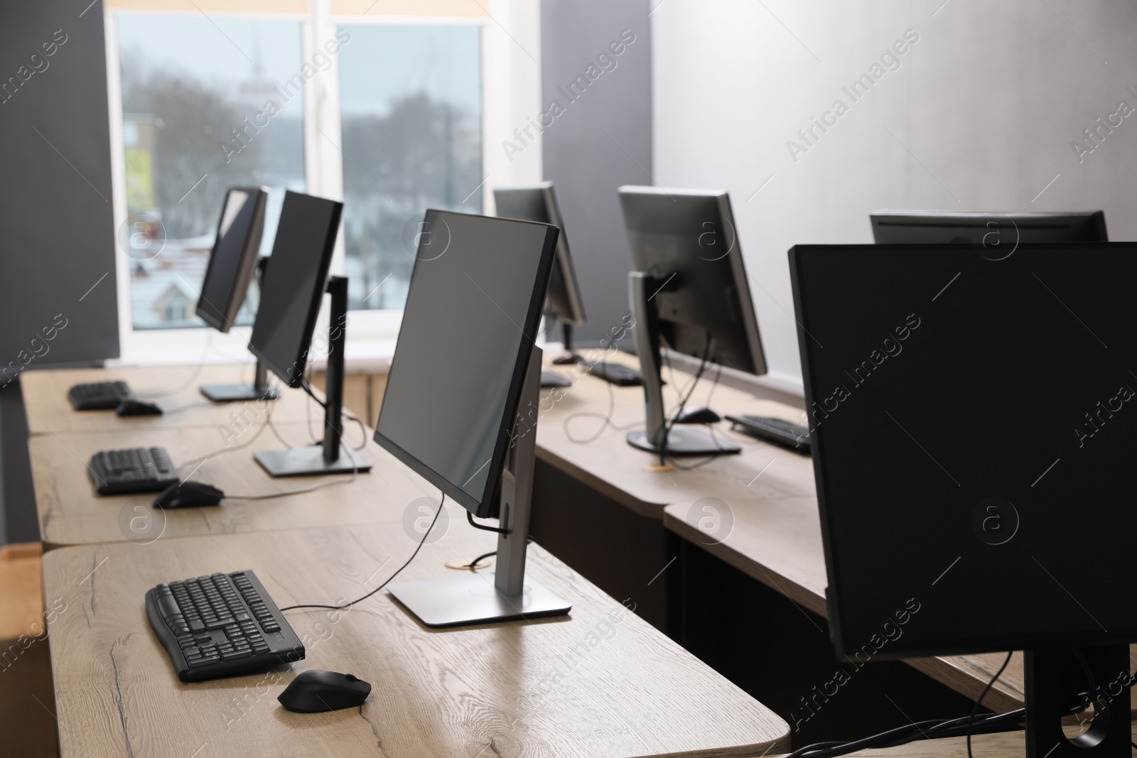
M1101 210L987 213L874 210L869 215L877 244L972 243L990 253L1021 242L1109 242Z

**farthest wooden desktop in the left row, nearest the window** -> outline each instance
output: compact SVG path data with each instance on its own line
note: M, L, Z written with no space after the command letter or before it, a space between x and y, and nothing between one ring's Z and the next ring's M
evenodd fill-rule
M27 428L35 434L70 434L75 432L121 432L138 428L185 428L191 426L219 426L232 423L230 415L242 413L244 403L211 403L198 390L202 384L227 384L252 381L252 364L202 366L193 381L189 381L196 366L161 366L148 368L60 368L25 372L19 377L24 393ZM67 391L75 384L88 382L124 381L147 400L146 393L161 393L182 388L179 392L150 400L164 410L184 408L161 416L119 417L113 410L76 411L67 399ZM281 398L273 401L273 420L302 422L309 415L317 428L323 411L310 402L302 390L281 388L275 377L269 380L281 390ZM184 386L182 386L184 385ZM249 403L250 406L252 403Z

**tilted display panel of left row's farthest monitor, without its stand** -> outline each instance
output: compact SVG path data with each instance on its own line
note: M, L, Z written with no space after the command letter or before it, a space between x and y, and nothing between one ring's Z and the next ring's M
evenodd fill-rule
M197 310L198 316L219 332L229 332L244 302L257 266L267 197L264 190L243 188L225 194Z

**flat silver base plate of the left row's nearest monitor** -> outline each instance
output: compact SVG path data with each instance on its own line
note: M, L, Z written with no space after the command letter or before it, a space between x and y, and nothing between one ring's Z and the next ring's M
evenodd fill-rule
M501 594L493 582L491 572L470 572L405 582L389 591L399 605L431 627L565 616L572 610L571 602L534 580L525 578L525 590L520 595Z

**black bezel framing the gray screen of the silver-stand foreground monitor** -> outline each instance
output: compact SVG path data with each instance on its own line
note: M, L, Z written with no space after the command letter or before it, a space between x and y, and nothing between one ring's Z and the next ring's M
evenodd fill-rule
M517 360L514 363L513 375L509 380L509 390L506 394L505 410L501 415L501 426L498 432L497 442L493 445L493 456L490 458L489 463L489 474L487 478L485 491L482 493L482 500L478 500L465 490L463 490L457 484L450 482L448 478L435 472L433 468L418 460L414 455L405 450L398 442L383 435L380 432L379 420L375 422L375 433L372 439L384 450L390 452L392 456L398 458L400 461L406 464L412 470L425 478L428 482L440 489L447 495L449 495L455 502L459 503L463 508L468 510L471 514L479 518L491 518L497 515L498 510L498 497L501 488L501 472L505 469L506 453L508 452L508 444L512 438L512 432L514 424L517 419L517 408L521 405L521 394L523 385L525 382L525 376L529 369L529 359L536 348L536 336L538 330L540 328L541 311L545 307L545 294L548 289L549 283L549 270L553 267L553 259L556 253L557 239L559 236L561 230L551 224L542 224L540 222L526 222L514 218L498 218L496 216L482 216L479 214L460 214L453 210L439 210L439 209L428 209L424 215L424 222L430 224L431 218L437 218L439 215L448 216L472 216L475 218L484 218L493 222L504 222L509 224L531 224L534 226L543 226L546 228L545 242L541 248L541 260L538 264L537 269L537 281L533 283L533 291L530 293L529 310L525 314L525 320L521 325L523 338L521 340L521 349L517 351ZM420 244L423 244L420 241ZM412 285L414 282L414 272L420 265L424 263L424 256L416 255L414 268L410 272ZM409 297L409 295L408 295ZM532 335L532 336L531 336ZM399 331L399 338L395 345L395 356L399 355L399 345L401 344L404 338L404 332ZM391 374L397 370L398 361L393 358L391 360ZM390 384L389 384L390 386ZM383 405L387 405L390 399L390 392L383 394ZM382 418L383 409L380 407L379 418ZM460 433L460 430L459 430ZM536 430L525 432L529 434L534 434Z

